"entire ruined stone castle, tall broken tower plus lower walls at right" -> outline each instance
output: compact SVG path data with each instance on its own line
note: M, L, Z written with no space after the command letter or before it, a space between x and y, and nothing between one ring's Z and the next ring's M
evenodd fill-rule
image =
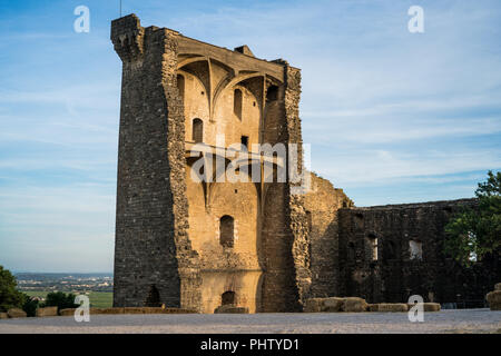
M305 171L299 69L247 46L143 28L135 14L112 21L111 41L122 61L115 306L143 306L151 290L166 306L203 313L299 312L314 296L452 303L499 279L442 253L448 218L474 200L355 208L314 174L306 194L291 179L219 181L210 166L203 175L214 179L193 179L205 150L239 176L288 172L289 159L255 144L295 145ZM235 142L248 158L219 155Z

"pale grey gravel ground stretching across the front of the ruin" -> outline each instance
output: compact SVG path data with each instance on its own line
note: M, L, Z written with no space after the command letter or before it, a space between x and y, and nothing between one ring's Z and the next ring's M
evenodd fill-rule
M425 313L410 323L406 313L254 315L91 315L0 320L0 333L168 333L168 334L330 334L330 333L500 333L501 312L489 309Z

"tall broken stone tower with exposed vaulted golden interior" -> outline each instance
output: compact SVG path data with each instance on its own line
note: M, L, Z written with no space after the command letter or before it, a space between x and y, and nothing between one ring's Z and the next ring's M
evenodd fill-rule
M235 164L219 157L233 144L248 150L238 175L279 168L256 144L296 144L302 157L299 70L247 46L143 28L135 14L112 21L111 41L122 60L114 305L143 306L154 287L161 304L204 313L298 310L311 276L293 184L218 181L206 167L214 180L196 181L191 171L204 150Z

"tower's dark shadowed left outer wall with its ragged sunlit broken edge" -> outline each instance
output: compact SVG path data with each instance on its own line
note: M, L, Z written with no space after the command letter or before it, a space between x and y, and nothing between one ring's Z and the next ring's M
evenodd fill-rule
M122 60L114 305L143 306L151 285L171 307L199 307L197 254L186 234L184 115L177 33L115 20Z

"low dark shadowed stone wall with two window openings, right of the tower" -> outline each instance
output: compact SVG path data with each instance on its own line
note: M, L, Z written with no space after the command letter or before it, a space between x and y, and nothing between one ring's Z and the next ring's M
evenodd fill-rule
M464 268L443 247L449 219L463 206L475 204L475 199L463 199L341 209L341 295L370 303L406 303L420 295L425 301L481 307L501 277L499 257Z

